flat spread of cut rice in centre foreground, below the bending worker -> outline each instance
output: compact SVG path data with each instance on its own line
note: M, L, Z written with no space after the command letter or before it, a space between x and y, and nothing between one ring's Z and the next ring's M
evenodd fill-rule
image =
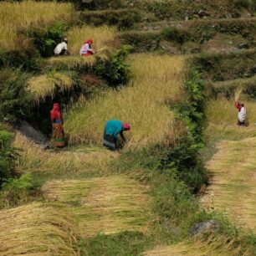
M148 231L151 197L147 187L127 177L48 182L46 196L66 204L79 223L80 233Z

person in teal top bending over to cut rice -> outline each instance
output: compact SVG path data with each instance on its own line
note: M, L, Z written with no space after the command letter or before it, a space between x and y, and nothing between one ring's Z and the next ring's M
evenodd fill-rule
M120 120L108 120L105 123L103 146L107 147L112 151L115 151L118 148L118 135L120 134L123 141L125 141L123 131L129 131L130 129L131 126L129 124L123 123Z

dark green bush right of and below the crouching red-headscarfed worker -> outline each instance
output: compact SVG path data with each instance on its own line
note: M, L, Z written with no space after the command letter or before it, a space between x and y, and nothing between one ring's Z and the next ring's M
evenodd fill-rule
M130 46L123 46L110 56L107 61L100 60L95 66L95 74L104 79L110 87L126 84L130 79L130 65L125 63Z

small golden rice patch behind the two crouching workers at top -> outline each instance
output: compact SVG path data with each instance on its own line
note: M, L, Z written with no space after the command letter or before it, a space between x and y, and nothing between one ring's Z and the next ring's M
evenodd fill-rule
M92 48L105 51L106 48L113 48L116 40L116 29L108 26L97 28L89 26L74 27L69 30L67 38L69 39L69 52L72 55L79 55L82 44L88 39L93 39L94 41Z

